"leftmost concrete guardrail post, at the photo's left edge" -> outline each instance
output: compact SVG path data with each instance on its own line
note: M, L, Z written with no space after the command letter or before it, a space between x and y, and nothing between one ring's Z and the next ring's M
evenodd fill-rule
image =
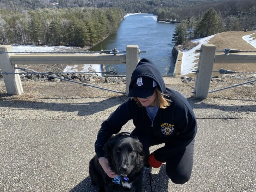
M11 45L0 45L0 69L2 73L18 73L17 65L12 65L10 56L13 52ZM22 94L23 88L19 74L3 74L5 87L8 94Z

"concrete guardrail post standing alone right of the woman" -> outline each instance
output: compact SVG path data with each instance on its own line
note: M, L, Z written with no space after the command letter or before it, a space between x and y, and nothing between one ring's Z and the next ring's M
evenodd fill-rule
M206 98L208 96L213 71L216 46L212 44L201 45L198 71L195 83L195 97Z

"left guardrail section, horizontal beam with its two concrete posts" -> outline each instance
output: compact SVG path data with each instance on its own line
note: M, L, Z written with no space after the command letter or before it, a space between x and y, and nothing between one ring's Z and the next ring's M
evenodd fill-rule
M4 78L8 94L22 94L17 65L42 64L125 64L126 65L126 94L129 93L129 84L132 71L139 61L138 45L127 45L126 54L14 54L11 45L0 45L0 69ZM4 74L6 73L6 74Z

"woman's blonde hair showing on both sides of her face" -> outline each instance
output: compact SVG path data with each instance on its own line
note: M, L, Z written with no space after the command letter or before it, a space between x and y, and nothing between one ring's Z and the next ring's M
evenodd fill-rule
M163 94L158 87L155 88L156 90L156 98L155 98L155 106L160 109L165 109L171 104L171 100L167 99L168 95ZM137 103L137 106L142 107L139 100L136 97L132 97Z

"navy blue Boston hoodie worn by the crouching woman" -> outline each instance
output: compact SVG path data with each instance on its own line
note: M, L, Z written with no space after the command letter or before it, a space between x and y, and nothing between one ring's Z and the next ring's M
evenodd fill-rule
M152 78L159 90L167 95L165 97L171 100L170 106L166 109L159 108L152 121L145 107L138 107L134 99L128 98L102 123L95 142L98 157L104 156L103 146L108 138L117 134L129 120L133 120L134 126L142 132L150 132L157 141L165 143L154 151L155 159L161 162L184 149L195 138L197 122L191 106L180 93L165 86L156 65L147 59L141 59L132 73L129 90L138 77Z

